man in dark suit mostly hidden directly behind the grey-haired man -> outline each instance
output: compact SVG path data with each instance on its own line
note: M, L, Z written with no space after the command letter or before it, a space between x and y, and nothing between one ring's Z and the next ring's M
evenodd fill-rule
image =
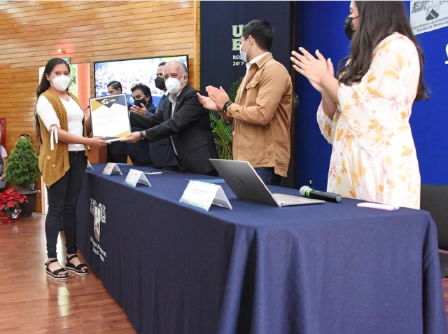
M163 91L162 98L157 105L157 109L155 109L155 113L163 113L163 106L165 102L168 101L169 92L165 86L165 79L163 78L165 64L167 63L161 62L155 73L155 88ZM151 158L153 159L153 164L156 168L179 172L179 165L177 165L176 155L174 155L169 137L150 143L149 151L151 153Z

